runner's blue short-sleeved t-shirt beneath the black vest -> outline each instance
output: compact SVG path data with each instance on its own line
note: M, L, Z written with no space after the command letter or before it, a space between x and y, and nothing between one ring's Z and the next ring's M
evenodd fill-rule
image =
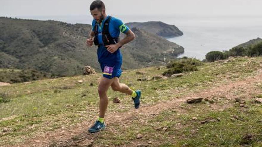
M103 45L102 31L103 31L105 20L107 20L108 17L109 16L107 16L102 21L101 25L98 25L97 27L98 41L99 41L99 44L101 44L101 46L97 49L97 58L100 64L102 63L106 63L106 64L122 63L122 54L119 49L116 50L116 52L114 53L110 53L109 51L107 51L107 49ZM95 29L95 25L96 25L96 20L94 19L92 22L93 31ZM120 32L126 33L129 30L129 28L120 19L112 17L109 22L108 30L109 30L110 35L113 38L115 37L117 38L119 37Z

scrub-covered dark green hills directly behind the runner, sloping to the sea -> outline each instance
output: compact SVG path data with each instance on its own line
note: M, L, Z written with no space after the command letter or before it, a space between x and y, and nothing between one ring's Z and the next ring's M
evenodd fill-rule
M85 43L90 30L88 24L0 17L0 68L70 76L81 75L84 66L89 65L100 72L96 47L87 47ZM163 57L174 59L184 52L183 47L173 42L147 34L138 34L132 45L122 48L123 69L160 65L164 63ZM173 49L172 54L165 53ZM162 54L161 58L156 59L155 54Z

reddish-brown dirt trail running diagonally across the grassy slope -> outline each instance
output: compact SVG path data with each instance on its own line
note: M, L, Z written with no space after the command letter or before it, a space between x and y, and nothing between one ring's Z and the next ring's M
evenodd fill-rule
M202 97L202 98L212 98L212 97L225 97L230 101L235 97L238 97L237 92L244 90L246 94L251 94L253 92L258 92L260 89L252 88L255 83L262 82L262 70L258 69L255 71L255 76L249 76L244 80L238 81L228 81L226 84L221 84L219 86L213 86L209 89L188 94L188 96L172 98L171 100L165 102L159 102L153 106L145 106L141 107L138 110L132 109L128 112L113 112L107 113L107 126L117 122L125 122L130 121L137 114L143 114L145 116L150 116L152 114L159 114L163 110L179 108L181 104L185 102L189 97ZM247 97L249 98L249 97ZM231 104L232 105L232 104ZM230 107L230 103L228 105L216 106L212 105L214 109L225 109ZM39 134L33 138L26 140L24 144L8 146L8 147L53 147L53 146L77 146L78 142L83 140L95 140L96 137L99 136L99 133L90 134L88 133L88 128L93 125L95 120L93 118L88 118L87 121L83 121L78 125L72 127L68 130L57 129L53 132L49 132L46 134ZM88 124L88 125L87 125ZM78 139L74 139L74 138ZM54 143L54 144L52 144ZM135 144L130 144L127 146L134 146Z

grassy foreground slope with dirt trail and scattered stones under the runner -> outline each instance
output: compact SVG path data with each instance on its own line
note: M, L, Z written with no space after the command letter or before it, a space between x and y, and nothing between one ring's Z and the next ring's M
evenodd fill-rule
M141 107L135 110L130 96L110 88L107 129L97 134L87 129L98 116L100 74L3 86L0 97L9 101L0 103L0 146L69 147L85 140L93 140L93 147L261 146L262 107L254 101L262 92L261 64L261 57L241 57L142 82L137 79L168 69L126 70L120 81L142 90ZM121 103L113 103L116 96ZM188 97L205 100L186 104Z

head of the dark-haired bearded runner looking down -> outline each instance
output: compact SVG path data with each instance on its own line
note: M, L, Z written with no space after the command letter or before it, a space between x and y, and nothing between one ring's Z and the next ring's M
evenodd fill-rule
M101 23L105 18L105 4L102 1L93 1L90 5L90 12L96 22Z

